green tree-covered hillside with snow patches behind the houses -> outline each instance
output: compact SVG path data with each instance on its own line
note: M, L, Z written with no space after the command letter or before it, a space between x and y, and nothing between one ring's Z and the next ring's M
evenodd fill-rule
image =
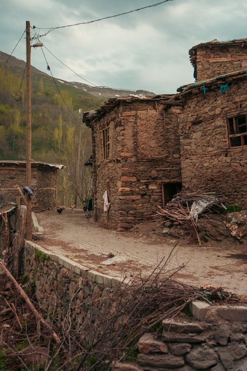
M26 80L21 59L0 52L0 160L26 159ZM24 75L24 79L23 79ZM95 109L110 97L148 94L145 91L92 87L79 82L55 79L32 66L32 158L58 162L60 171L58 203L74 202L75 169L78 151L79 108ZM59 91L58 91L59 90ZM79 198L90 197L91 170L83 163L91 155L91 132L82 125L82 152Z

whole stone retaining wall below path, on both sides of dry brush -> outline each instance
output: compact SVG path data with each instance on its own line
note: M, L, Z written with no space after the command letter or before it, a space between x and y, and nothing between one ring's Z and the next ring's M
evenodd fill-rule
M26 241L23 273L35 282L41 308L62 319L93 322L122 283ZM111 294L111 295L110 295ZM104 298L107 298L108 303ZM247 371L247 306L211 306L197 301L193 317L166 319L163 333L145 333L135 363L112 371Z

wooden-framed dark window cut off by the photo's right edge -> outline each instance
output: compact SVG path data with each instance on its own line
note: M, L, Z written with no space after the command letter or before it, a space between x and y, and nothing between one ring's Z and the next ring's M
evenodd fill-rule
M230 147L247 145L247 114L227 119Z

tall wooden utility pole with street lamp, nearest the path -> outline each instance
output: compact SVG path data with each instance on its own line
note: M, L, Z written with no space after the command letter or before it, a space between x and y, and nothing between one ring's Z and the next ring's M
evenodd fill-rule
M30 22L26 21L26 53L27 53L27 137L26 137L26 182L32 184L31 152L32 152L32 121L31 121L31 40ZM27 197L27 239L32 240L32 198Z

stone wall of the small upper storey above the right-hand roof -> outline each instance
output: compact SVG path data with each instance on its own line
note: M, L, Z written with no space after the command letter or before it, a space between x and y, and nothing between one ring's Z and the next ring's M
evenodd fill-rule
M246 43L200 47L197 50L197 82L239 71L243 60L247 61Z

